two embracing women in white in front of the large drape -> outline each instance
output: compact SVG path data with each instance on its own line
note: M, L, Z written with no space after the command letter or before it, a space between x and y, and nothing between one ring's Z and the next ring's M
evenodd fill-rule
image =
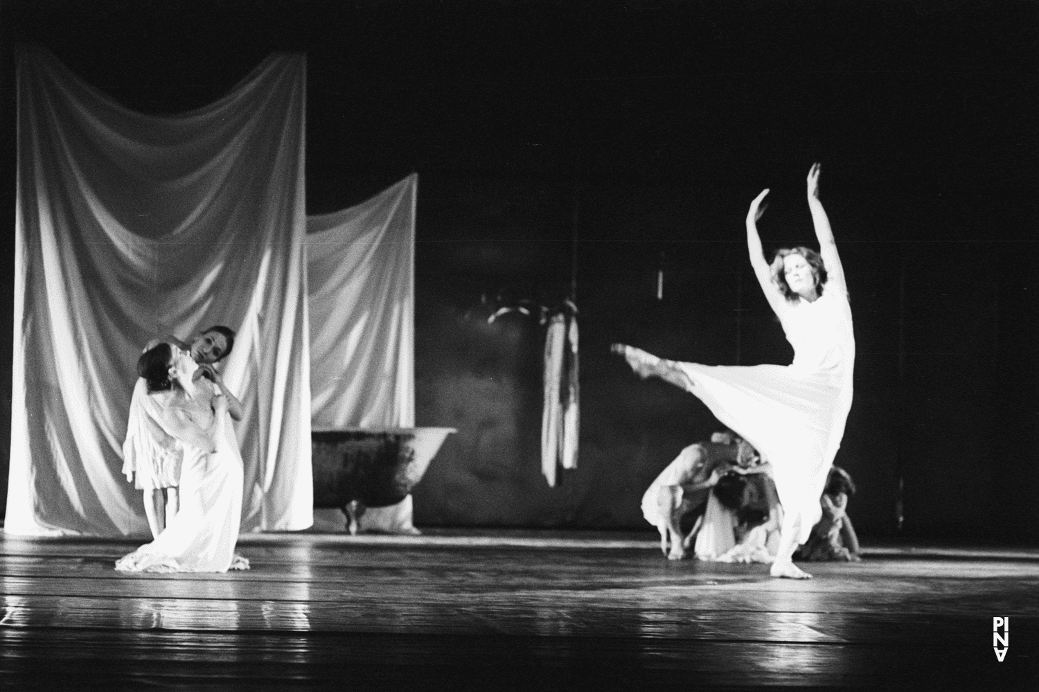
M121 558L122 571L247 569L235 555L242 457L231 419L242 405L214 365L235 334L215 326L184 343L150 343L137 361L123 471L143 491L155 540Z

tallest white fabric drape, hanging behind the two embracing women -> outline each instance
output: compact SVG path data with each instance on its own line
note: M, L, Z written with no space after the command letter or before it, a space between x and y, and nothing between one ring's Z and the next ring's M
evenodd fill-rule
M49 53L18 56L5 531L146 533L121 473L141 345L237 329L242 529L313 521L301 55L188 113L130 111Z

